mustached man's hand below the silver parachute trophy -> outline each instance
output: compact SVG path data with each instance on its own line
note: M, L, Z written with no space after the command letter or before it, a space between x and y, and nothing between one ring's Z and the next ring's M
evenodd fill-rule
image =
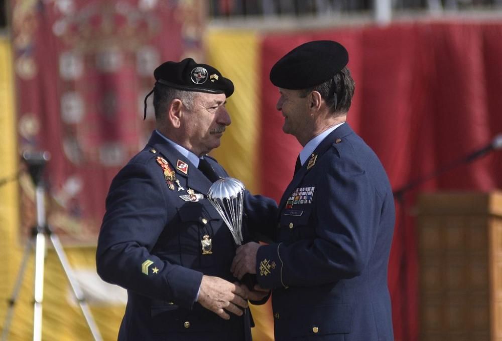
M225 310L241 316L241 308L247 308L247 290L222 278L203 275L197 302L221 318L230 319Z

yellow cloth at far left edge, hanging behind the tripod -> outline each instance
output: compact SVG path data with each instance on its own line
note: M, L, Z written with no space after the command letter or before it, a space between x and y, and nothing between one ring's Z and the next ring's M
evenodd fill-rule
M16 114L14 100L14 70L11 42L0 37L0 333L6 325L9 311L8 299L12 296L16 278L20 272L24 250L24 238L20 235L19 182L16 175L19 167L17 148ZM26 174L20 181L30 186ZM47 240L47 244L49 244ZM23 341L33 337L33 283L34 251L30 251L21 288L14 305L14 314L9 324L10 341ZM95 272L95 248L66 249L66 254L75 269ZM50 246L44 266L44 300L42 318L43 340L92 340L91 332L80 308L74 302L68 280L55 251ZM104 340L116 340L118 326L123 315L122 304L93 305L96 320Z

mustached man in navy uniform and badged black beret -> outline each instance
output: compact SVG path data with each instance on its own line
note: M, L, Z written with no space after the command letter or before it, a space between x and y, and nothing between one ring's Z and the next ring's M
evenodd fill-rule
M206 154L230 124L233 84L190 58L154 76L157 129L111 183L96 253L101 278L128 290L118 339L248 341L247 298L261 297L234 284L235 243L206 196L228 176ZM244 205L249 226L277 214L248 192Z

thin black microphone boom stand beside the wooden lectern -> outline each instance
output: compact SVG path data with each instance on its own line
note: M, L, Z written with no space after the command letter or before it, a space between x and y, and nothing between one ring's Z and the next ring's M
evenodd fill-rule
M502 134L497 135L492 142L479 149L476 150L458 160L452 161L444 166L439 167L438 169L423 175L422 177L415 178L406 185L402 186L401 188L398 188L397 190L393 191L394 194L394 199L399 205L399 210L400 210L400 216L399 216L399 223L398 226L401 226L403 228L403 233L402 233L402 244L406 245L406 240L408 239L408 233L405 228L406 226L406 203L405 203L405 194L411 191L412 189L415 189L416 187L420 186L421 184L432 180L444 173L449 172L450 170L457 168L461 165L468 164L481 156L493 151L493 150L498 150L502 148ZM401 257L401 269L403 270L402 273L404 273L404 277L402 278L402 281L404 282L405 288L408 288L408 274L404 271L406 269L406 257ZM406 314L406 308L408 307L407 304L407 293L405 292L404 295L402 296L402 304L401 304L401 310L402 310L402 316L407 316ZM409 328L409 323L408 319L405 319L403 321L403 339L404 340L409 340L410 339L410 328Z

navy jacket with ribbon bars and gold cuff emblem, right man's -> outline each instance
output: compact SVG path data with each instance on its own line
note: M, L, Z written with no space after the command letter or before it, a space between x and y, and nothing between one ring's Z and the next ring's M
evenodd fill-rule
M275 340L393 340L393 194L378 157L348 124L295 174L279 210L278 243L257 254L258 282L274 288Z

